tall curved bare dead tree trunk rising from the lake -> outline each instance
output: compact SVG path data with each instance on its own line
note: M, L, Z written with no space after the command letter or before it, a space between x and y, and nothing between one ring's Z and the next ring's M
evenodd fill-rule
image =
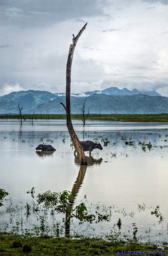
M71 96L71 67L72 67L72 60L73 60L75 46L76 46L81 34L85 30L86 25L87 25L87 23L83 26L83 28L80 30L78 35L72 39L72 44L70 44L68 60L66 63L66 107L65 107L65 105L63 105L62 102L60 102L60 104L62 104L66 110L66 126L68 128L72 143L74 144L74 148L78 152L78 157L79 157L81 165L87 165L87 161L86 161L83 147L77 137L77 134L74 131L74 128L72 125L72 120L71 120L71 99L70 99L70 96Z

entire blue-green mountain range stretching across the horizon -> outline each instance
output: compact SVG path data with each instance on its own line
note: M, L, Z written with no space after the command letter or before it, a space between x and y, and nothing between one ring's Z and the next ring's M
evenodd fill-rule
M90 93L90 95L89 95ZM132 93L132 94L131 94ZM145 92L146 93L146 92ZM127 88L122 90L117 87L110 87L105 90L85 92L83 96L75 94L71 96L71 113L81 113L84 104L85 112L90 113L168 113L168 98L162 97L156 91L150 92L153 96L140 94L136 89L130 91ZM23 107L22 113L65 113L60 104L65 104L65 93L50 93L40 90L28 90L12 92L0 97L0 114L18 113L18 105ZM131 94L131 95L130 95Z

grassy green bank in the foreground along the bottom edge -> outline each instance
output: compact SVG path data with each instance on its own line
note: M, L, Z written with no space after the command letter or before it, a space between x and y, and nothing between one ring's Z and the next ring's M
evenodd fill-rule
M13 242L19 242L18 248L13 248ZM20 244L21 243L21 244ZM31 252L23 253L23 246L29 245ZM125 241L105 241L97 238L66 239L5 235L0 233L0 255L1 256L91 256L91 255L117 255L117 251L167 251L167 243L164 243L164 250L158 249L154 243L137 243ZM124 254L123 254L124 255Z

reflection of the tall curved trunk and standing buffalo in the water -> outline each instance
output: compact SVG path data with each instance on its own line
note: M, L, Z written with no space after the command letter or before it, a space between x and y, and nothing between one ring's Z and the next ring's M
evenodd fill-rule
M75 156L75 164L80 165L79 158L74 154ZM89 157L86 157L88 165L93 165L93 164L100 164L102 163L103 159L95 159L91 155ZM74 199L77 197L77 194L81 188L81 185L83 184L84 176L86 173L87 165L80 165L80 170L78 172L78 177L76 181L74 182L74 185L72 187L71 194L74 196ZM73 204L71 204L71 207ZM70 235L70 216L68 215L68 212L66 212L66 217L65 217L65 237L69 238Z

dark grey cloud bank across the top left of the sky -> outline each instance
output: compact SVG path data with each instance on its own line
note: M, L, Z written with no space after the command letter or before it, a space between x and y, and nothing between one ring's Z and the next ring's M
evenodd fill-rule
M97 0L0 1L0 22L22 28L43 27L68 19L102 15Z

